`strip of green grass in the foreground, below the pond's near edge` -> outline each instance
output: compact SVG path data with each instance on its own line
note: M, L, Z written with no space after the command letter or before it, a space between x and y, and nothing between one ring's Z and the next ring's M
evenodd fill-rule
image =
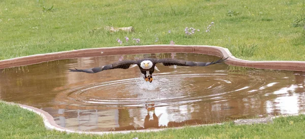
M280 117L272 124L224 125L167 129L160 132L85 135L44 128L42 118L0 102L0 138L304 138L305 115Z

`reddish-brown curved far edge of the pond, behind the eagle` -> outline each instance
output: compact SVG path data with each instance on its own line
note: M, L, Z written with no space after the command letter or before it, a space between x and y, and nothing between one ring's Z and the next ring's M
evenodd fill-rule
M263 68L271 70L287 70L305 72L305 61L250 61L234 57L227 48L218 46L199 46L199 45L145 45L145 46L123 46L80 49L63 51L47 54L37 54L30 56L17 57L0 61L0 69L14 66L29 65L46 61L107 56L123 54L143 54L143 53L199 53L215 55L218 57L229 57L226 64L244 67Z

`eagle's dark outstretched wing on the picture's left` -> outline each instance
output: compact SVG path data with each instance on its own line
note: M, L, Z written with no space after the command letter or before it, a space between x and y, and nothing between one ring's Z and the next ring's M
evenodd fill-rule
M129 68L129 66L131 64L138 64L137 61L134 60L125 60L125 61L117 61L114 62L112 64L107 64L104 66L98 66L98 67L93 67L93 68L87 68L87 69L68 69L70 70L70 72L84 72L84 73L88 73L88 74L94 74L94 73L98 73L101 71L105 71L105 70L111 70L111 69L115 69L115 68L123 68L123 69L127 69Z

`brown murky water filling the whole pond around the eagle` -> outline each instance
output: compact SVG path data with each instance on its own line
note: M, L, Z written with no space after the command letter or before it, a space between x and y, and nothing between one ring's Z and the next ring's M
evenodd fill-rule
M143 57L212 61L202 54L144 54L57 60L0 70L0 98L40 108L60 126L89 131L176 127L305 110L305 73L216 64L163 66L153 83L138 67L70 73Z

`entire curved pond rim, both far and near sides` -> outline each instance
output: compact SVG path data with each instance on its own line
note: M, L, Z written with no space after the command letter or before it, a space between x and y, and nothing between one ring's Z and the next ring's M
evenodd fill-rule
M46 61L80 58L80 57L93 57L93 56L107 56L107 55L123 55L123 54L143 54L143 53L199 53L214 55L218 57L229 57L226 64L244 67L263 68L271 70L287 70L287 71L302 71L305 72L305 61L250 61L235 58L227 48L218 46L184 46L184 45L146 45L146 46L124 46L124 47L107 47L107 48L93 48L93 49L80 49L64 52L55 52L47 54L37 54L24 57L17 57L0 61L0 69L7 67L23 66L29 64L36 64ZM1 101L1 100L0 100ZM5 101L4 101L5 102ZM43 118L43 122L47 129L55 129L58 131L65 131L67 133L85 133L85 134L105 134L105 133L130 133L130 132L147 132L147 131L162 131L166 129L181 129L185 127L175 128L159 128L159 129L145 129L145 130L132 130L132 131L80 131L71 130L57 125L53 117L38 108L21 105L18 103L5 102L8 105L18 105L20 108L37 113ZM305 114L305 113L301 113ZM294 116L299 114L290 114L282 116ZM273 118L280 116L273 116L260 119L242 119L233 121L235 124L253 124L253 123L269 123ZM216 123L223 124L223 123ZM216 124L194 125L196 126L209 126Z

